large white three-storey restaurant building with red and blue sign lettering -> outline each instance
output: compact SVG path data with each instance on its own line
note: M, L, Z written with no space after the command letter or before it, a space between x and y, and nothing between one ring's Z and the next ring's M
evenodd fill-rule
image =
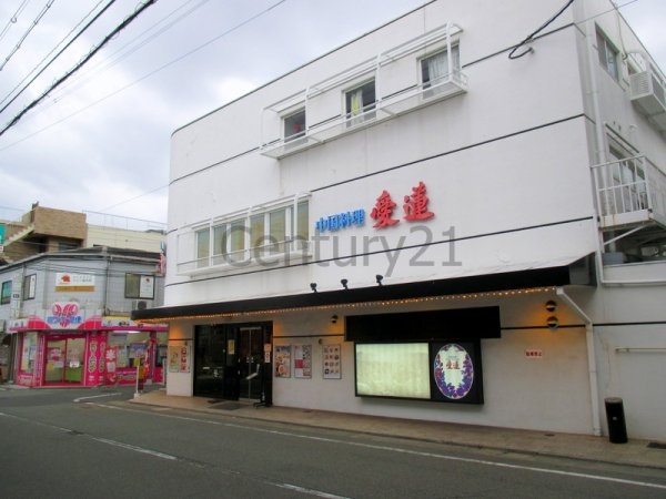
M175 131L168 393L666 438L665 80L561 9L430 2Z

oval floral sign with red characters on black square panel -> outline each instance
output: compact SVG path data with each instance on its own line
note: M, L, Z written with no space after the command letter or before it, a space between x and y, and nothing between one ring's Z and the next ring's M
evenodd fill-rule
M483 404L483 376L478 342L431 344L431 399Z

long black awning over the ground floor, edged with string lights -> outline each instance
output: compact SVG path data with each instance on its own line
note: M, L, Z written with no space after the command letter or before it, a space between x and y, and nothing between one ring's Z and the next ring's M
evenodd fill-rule
M431 296L470 293L490 293L508 289L525 289L569 284L593 284L593 258L584 258L567 265L531 268L496 274L420 281L404 284L336 289L320 293L271 296L265 298L239 299L234 302L202 303L172 307L132 310L132 320L168 320L179 317L196 317L224 314L258 313L279 309L312 308L331 305L349 305L365 302L384 302ZM304 283L304 287L309 283Z

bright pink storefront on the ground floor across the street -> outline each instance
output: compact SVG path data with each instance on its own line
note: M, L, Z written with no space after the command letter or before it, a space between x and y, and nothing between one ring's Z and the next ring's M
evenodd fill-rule
M56 312L53 312L56 310ZM27 387L163 383L168 326L64 313L10 320L19 335L14 383Z

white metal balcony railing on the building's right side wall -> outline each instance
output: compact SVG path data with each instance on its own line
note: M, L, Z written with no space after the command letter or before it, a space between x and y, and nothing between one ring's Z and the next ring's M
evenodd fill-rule
M645 156L592 167L603 228L657 222L666 226L666 174Z

